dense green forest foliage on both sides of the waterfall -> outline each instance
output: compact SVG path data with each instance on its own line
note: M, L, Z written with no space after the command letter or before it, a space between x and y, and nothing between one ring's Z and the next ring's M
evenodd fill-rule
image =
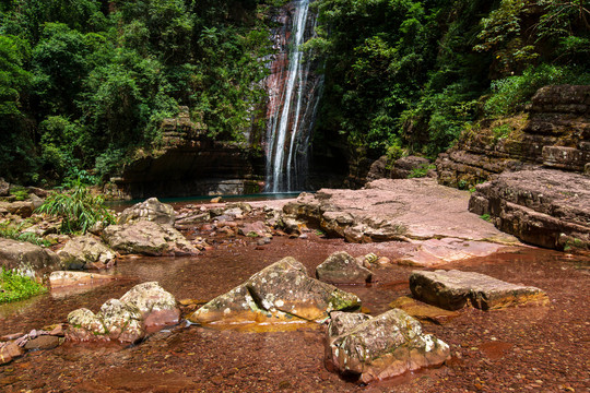
M187 106L216 139L260 119L271 7L285 0L7 0L0 176L101 180ZM547 83L588 83L588 0L317 0L317 134L434 156ZM258 108L258 109L257 109Z

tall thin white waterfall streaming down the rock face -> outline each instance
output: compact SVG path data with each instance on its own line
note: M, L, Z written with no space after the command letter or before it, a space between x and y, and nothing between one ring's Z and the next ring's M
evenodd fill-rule
M266 190L269 192L305 187L310 132L323 81L312 73L312 62L304 61L300 50L302 44L314 35L316 24L315 15L309 12L309 2L293 1L293 16L282 14L280 22L283 28L275 34L280 52L271 64L271 76L267 81L269 126Z

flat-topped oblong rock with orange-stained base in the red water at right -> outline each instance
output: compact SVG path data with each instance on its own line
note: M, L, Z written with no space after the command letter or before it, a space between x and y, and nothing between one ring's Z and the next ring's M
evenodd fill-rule
M547 295L542 289L456 270L413 272L410 289L414 298L447 310L458 310L469 305L494 310L527 303L548 303Z

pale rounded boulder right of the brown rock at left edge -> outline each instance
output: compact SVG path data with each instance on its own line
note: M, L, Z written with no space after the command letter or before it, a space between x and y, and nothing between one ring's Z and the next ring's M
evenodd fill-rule
M117 255L101 239L86 235L79 236L66 243L58 251L67 269L108 269L116 262Z

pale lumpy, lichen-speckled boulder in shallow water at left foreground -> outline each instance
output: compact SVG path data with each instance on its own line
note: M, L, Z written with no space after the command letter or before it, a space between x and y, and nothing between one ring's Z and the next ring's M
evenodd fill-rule
M145 334L178 323L180 310L173 295L157 283L143 283L120 299L109 299L95 314L82 308L68 314L66 336L71 341L137 343Z

